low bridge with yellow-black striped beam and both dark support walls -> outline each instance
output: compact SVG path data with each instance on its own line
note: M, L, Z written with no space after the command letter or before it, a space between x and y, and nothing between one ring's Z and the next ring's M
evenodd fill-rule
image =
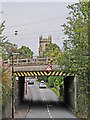
M44 61L45 62L45 61ZM35 77L35 76L63 76L64 80L64 103L70 108L74 109L77 107L77 76L73 73L66 73L62 71L59 65L51 64L52 70L47 71L46 68L48 62L45 64L28 63L24 61L23 64L17 62L14 64L13 75L15 79L18 78L18 98L22 102L24 98L25 90L25 77Z

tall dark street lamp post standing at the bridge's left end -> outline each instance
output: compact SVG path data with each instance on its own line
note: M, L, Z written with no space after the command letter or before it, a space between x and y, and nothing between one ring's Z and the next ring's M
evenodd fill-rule
M13 79L13 72L14 72L14 64L13 64L13 55L19 55L20 53L12 53L12 118L14 118L14 79Z

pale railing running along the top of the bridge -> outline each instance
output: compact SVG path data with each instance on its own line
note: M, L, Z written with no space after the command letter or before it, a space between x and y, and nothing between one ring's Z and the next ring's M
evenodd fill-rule
M11 65L12 60L8 59L3 62L4 64L9 64ZM50 57L39 57L39 56L33 56L33 57L26 57L26 58L13 58L13 64L17 66L34 66L34 65L56 65L56 57L52 57L52 60Z

